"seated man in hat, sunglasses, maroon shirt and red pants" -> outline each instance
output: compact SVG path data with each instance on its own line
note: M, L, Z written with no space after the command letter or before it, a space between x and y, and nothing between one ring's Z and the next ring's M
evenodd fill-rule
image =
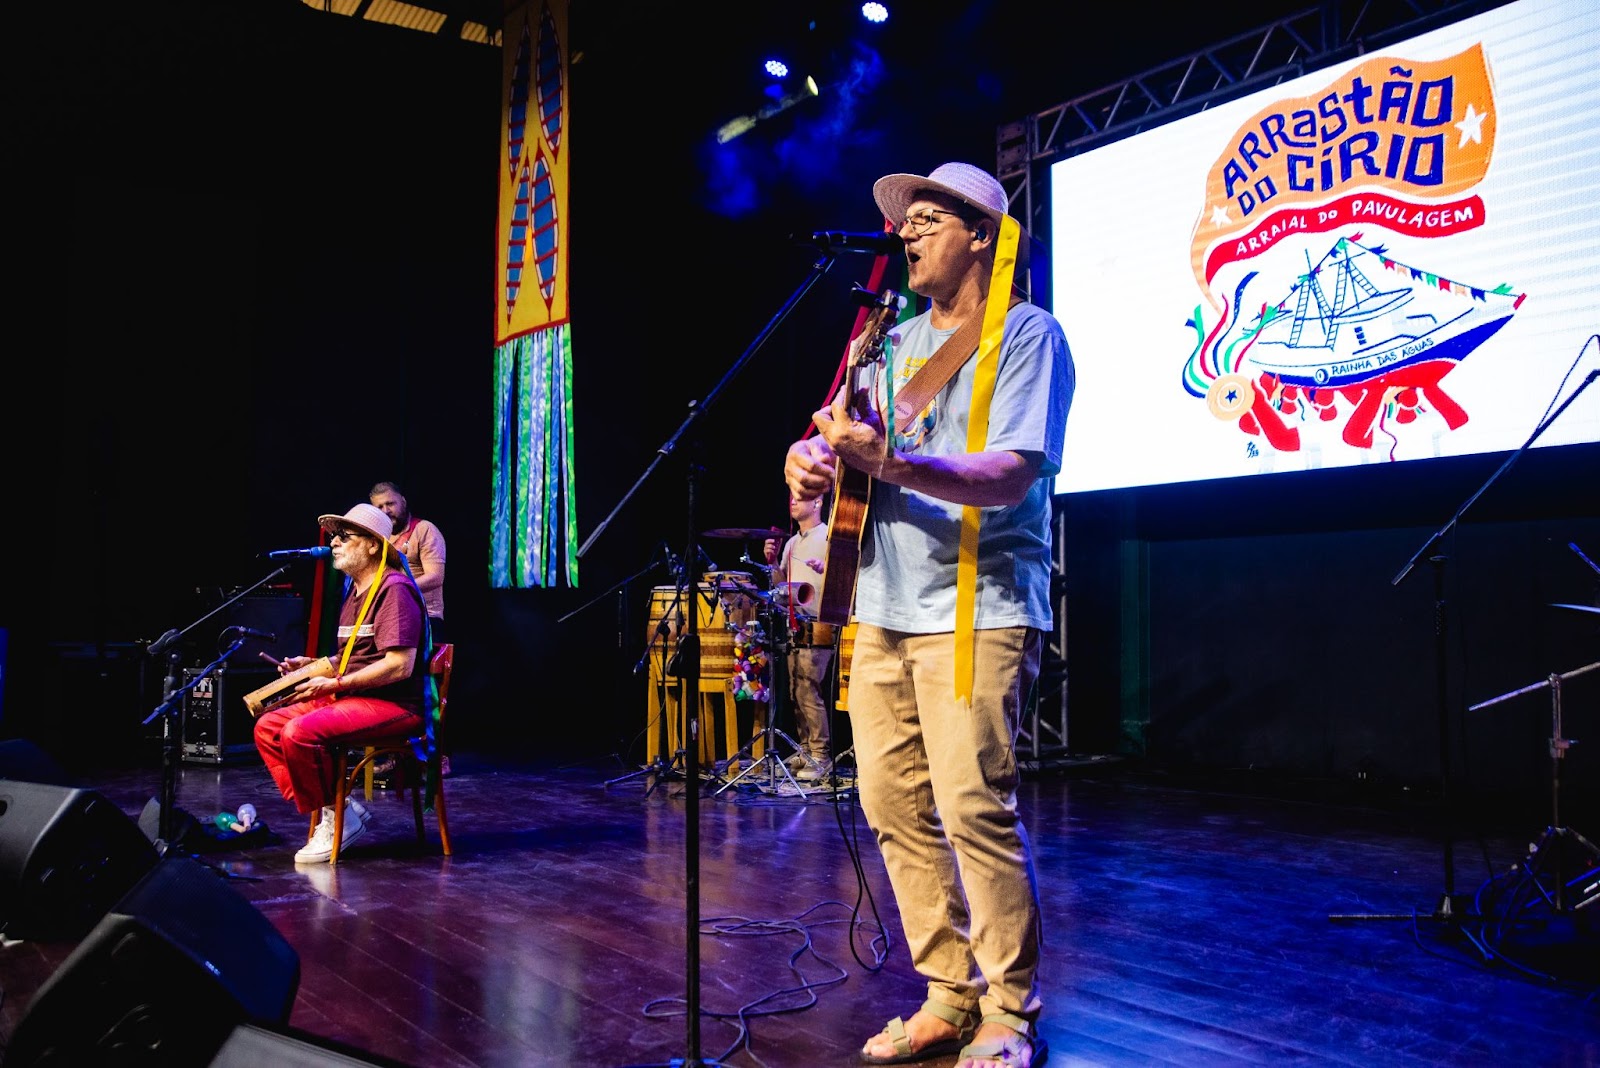
M322 809L296 863L326 862L333 854L336 747L410 737L426 726L427 616L416 582L389 544L389 516L358 504L317 521L333 544L333 566L347 579L339 652L278 664L280 675L317 659L330 670L298 683L293 703L256 719L256 748L283 798L304 815ZM349 803L341 851L366 831L370 819L360 803Z

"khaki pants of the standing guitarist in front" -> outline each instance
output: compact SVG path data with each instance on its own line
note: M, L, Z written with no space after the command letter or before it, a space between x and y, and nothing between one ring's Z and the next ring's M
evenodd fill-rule
M1043 633L976 633L973 702L950 633L862 624L850 673L861 807L928 996L1037 1020L1038 886L1018 815L1016 734Z

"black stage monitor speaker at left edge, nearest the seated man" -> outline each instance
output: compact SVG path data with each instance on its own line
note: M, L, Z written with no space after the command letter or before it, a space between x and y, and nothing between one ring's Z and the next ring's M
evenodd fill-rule
M155 867L155 846L93 790L0 779L0 934L82 938Z

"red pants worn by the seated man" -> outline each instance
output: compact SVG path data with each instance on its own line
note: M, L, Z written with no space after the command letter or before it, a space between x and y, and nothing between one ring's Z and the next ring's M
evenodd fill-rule
M422 715L392 700L342 694L264 711L256 750L285 801L301 815L333 804L334 747L408 739L422 732Z

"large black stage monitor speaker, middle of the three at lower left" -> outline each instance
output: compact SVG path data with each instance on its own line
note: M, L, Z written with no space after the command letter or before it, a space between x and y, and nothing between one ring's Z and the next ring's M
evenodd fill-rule
M34 994L5 1068L203 1068L288 1022L299 954L221 873L166 855Z

